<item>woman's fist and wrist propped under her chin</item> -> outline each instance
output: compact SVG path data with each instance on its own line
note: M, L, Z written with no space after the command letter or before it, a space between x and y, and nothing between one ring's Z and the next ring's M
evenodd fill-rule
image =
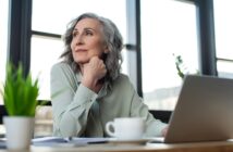
M82 84L89 89L98 92L101 85L98 84L99 79L107 74L106 65L98 56L93 56L88 63L83 64L83 79Z

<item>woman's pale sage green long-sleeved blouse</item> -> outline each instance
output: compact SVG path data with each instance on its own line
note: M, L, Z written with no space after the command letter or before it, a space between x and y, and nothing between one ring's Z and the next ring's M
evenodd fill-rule
M53 135L60 137L108 137L105 125L115 117L144 117L146 136L161 136L167 124L155 119L127 76L106 83L99 93L81 84L82 75L66 63L51 68Z

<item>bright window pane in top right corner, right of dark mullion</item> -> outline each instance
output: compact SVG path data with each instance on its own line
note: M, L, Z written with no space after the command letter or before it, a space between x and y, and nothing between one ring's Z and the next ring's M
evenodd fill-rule
M214 0L213 10L217 58L233 60L233 1Z

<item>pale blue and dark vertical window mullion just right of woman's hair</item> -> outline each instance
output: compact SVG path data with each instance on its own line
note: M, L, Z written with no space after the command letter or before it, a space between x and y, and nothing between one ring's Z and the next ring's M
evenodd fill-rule
M140 54L140 1L126 1L127 15L127 43L128 50L128 75L137 89L137 93L143 97L142 88L142 54Z

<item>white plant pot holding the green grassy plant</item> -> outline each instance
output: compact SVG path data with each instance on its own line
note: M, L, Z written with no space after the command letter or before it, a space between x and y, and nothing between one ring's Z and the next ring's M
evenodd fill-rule
M35 118L27 116L4 116L7 148L10 150L29 149L34 135Z

